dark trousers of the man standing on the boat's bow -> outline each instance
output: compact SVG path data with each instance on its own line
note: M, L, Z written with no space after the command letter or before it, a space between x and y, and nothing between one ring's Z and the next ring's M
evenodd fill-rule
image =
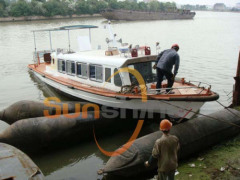
M164 71L162 69L157 68L157 85L156 88L160 89L162 88L162 81L163 81L163 76L165 76L168 80L168 84L167 84L167 88L171 88L173 86L174 83L174 78L173 78L173 74L169 73L167 71ZM171 89L167 89L166 91L169 92ZM158 90L158 92L160 92L160 90Z

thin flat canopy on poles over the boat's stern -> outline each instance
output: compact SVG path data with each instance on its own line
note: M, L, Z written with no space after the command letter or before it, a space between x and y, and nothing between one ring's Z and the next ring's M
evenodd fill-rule
M66 30L92 29L92 28L98 28L98 26L93 26L93 25L61 26L61 27L58 27L58 28L33 30L32 32L41 32L41 31L66 31Z

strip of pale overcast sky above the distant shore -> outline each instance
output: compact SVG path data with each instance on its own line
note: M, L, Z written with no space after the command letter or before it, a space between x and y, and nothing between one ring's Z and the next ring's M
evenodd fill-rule
M167 1L167 0L159 0ZM240 3L240 0L168 0L174 1L177 4L200 4L200 5L214 5L215 3L224 3L227 6L235 6L236 3Z

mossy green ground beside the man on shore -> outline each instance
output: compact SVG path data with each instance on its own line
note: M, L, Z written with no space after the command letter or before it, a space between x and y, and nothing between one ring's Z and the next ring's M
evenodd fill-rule
M179 164L178 180L240 177L240 136Z

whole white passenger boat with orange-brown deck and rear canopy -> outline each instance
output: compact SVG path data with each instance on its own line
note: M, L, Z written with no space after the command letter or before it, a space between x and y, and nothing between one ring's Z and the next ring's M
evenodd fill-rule
M90 32L96 26L64 26L36 30L33 33L35 39L38 31L49 31L51 35L52 31L69 32L86 28ZM90 37L89 34L89 42ZM83 46L89 48L86 38L81 40L85 42ZM85 49L79 52L73 52L70 48L36 51L35 45L34 54L37 58L28 68L40 80L63 93L114 108L136 109L190 119L205 102L218 99L218 94L211 91L211 86L203 87L202 83L194 85L185 82L184 78L176 78L171 90L174 94L157 94L156 70L152 68L156 55L151 55L150 48L117 47L115 44L118 42L114 35L110 35L107 42L113 44L109 45L107 50ZM139 72L141 76L132 75L126 71L127 68L131 72ZM144 83L136 83L141 78ZM167 82L163 81L161 92L166 91L166 84Z

